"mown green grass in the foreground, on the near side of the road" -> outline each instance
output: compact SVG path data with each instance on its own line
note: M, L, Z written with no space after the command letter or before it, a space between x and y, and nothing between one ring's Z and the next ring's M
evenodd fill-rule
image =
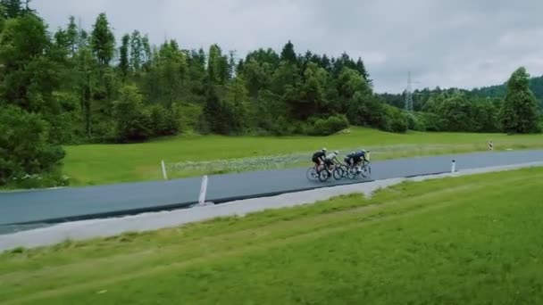
M2 304L540 304L543 169L0 255Z

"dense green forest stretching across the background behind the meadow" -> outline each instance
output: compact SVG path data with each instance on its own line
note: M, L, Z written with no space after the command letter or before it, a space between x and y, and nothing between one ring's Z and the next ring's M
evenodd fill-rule
M328 136L388 132L539 132L541 81L523 68L504 86L376 94L362 58L259 48L244 56L134 29L116 41L105 13L49 29L30 1L0 0L0 185L60 173L63 145L133 143L180 133ZM539 99L533 94L537 85ZM538 105L539 102L539 105Z

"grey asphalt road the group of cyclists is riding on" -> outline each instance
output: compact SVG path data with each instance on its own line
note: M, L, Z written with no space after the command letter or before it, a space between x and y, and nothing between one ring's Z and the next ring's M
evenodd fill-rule
M543 161L543 151L478 152L372 162L372 177L412 177L456 169L477 169ZM308 166L309 167L309 166ZM307 167L307 168L308 168ZM326 182L307 180L303 169L255 171L210 176L206 201L228 202L282 194L327 185L353 183L345 178ZM104 218L144 211L186 208L197 202L201 177L119 185L69 187L52 190L0 193L0 227Z

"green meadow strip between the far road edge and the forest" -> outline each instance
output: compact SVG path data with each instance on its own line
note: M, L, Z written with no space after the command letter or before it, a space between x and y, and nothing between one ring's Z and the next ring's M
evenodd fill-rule
M405 135L353 128L336 136L177 136L146 144L92 144L68 146L64 172L71 185L101 185L162 178L160 161L169 177L189 177L233 170L304 166L320 148L371 148L373 160L449 152L487 150L489 139L497 150L540 148L543 136L497 134L417 133ZM260 160L259 157L272 156ZM230 163L237 158L251 158ZM239 165L241 163L242 166ZM176 165L176 166L171 166Z

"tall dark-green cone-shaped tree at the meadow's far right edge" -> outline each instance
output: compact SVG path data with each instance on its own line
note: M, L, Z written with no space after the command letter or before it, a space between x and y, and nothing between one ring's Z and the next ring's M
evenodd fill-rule
M515 70L507 81L507 94L500 111L506 133L525 134L538 129L538 106L529 86L530 76L524 67Z

